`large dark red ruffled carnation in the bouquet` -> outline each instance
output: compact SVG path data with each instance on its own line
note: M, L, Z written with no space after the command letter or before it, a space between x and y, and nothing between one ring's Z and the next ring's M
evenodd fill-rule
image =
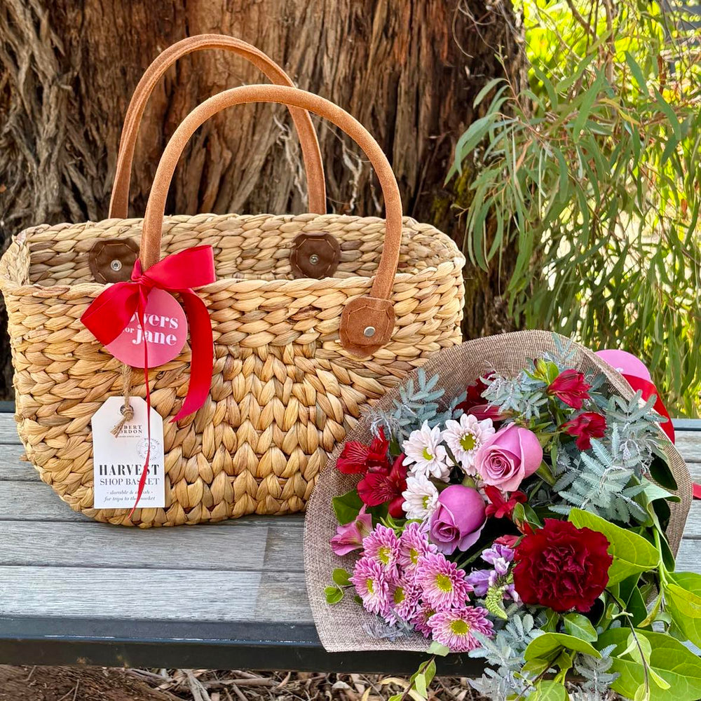
M603 533L578 529L569 521L545 519L515 550L514 586L524 604L554 611L586 613L608 584L608 554Z

